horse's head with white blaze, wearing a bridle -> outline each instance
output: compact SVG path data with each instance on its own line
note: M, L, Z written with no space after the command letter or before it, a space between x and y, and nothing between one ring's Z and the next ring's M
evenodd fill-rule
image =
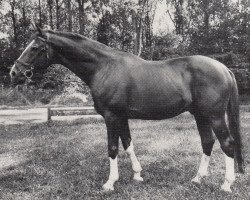
M39 71L50 65L50 52L46 32L36 26L37 33L11 68L10 76L14 85L23 84Z

